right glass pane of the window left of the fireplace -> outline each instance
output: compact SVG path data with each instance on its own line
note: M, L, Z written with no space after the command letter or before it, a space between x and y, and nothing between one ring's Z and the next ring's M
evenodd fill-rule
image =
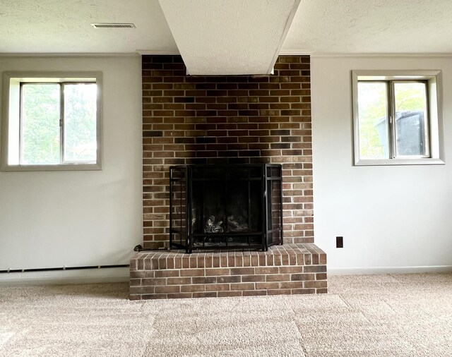
M97 158L97 85L64 85L64 161L95 162Z

